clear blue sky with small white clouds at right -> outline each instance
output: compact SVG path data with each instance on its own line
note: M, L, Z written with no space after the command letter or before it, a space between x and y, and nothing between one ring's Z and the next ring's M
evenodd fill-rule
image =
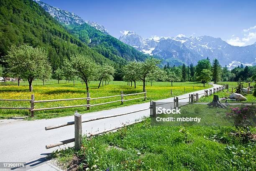
M256 0L42 0L102 24L119 38L208 35L236 46L256 42Z

